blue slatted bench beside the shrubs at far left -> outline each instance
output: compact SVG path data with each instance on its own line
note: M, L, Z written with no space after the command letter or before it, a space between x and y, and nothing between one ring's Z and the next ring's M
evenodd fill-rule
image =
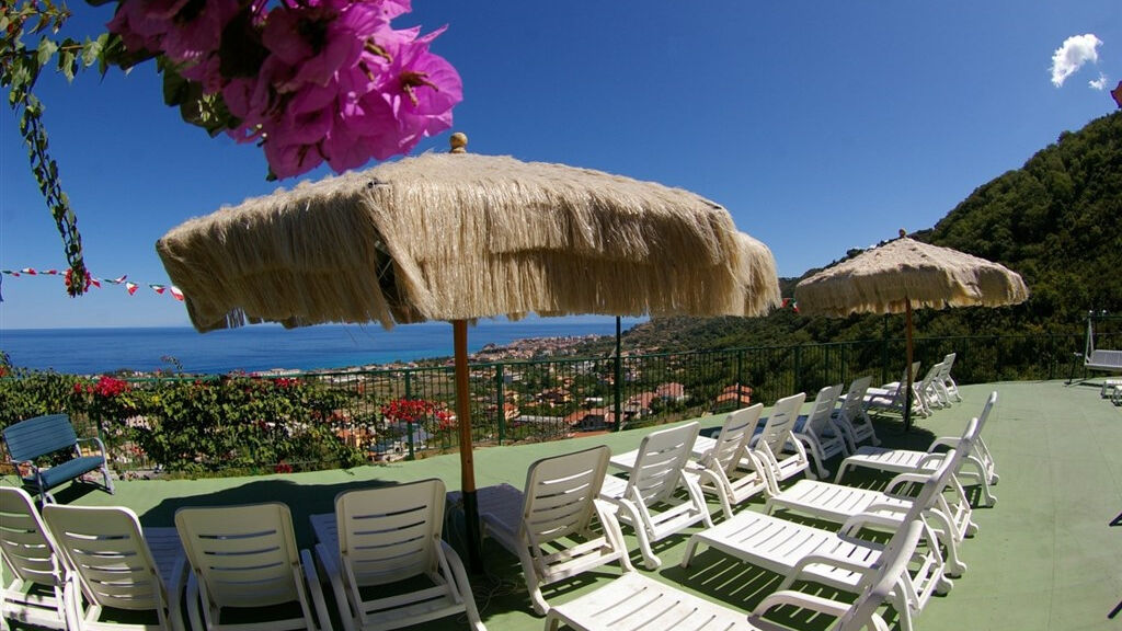
M79 439L66 414L47 414L10 424L3 429L3 442L8 449L10 464L22 479L24 487L43 495L44 502L55 501L50 494L52 488L96 469L101 469L105 491L113 493L113 481L109 477L104 443L100 438ZM81 442L96 442L100 455L83 456L79 447ZM40 458L56 452L59 457L70 456L70 458L39 468ZM25 469L21 470L20 467Z

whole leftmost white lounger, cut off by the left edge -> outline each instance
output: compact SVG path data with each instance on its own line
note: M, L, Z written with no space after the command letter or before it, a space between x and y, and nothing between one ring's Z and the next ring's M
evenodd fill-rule
M0 628L77 628L77 580L22 488L0 486L0 560L10 579L0 586Z

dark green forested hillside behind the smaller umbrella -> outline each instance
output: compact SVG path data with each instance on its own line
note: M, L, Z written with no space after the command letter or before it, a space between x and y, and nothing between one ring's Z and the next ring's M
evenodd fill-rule
M1091 309L1122 312L1122 112L1060 134L1024 166L911 236L1002 263L1031 294L1018 307L917 311L921 336L1079 332ZM782 280L783 295L799 280ZM902 321L889 319L890 335L899 335ZM785 345L876 338L883 324L880 316L804 318L784 309L766 318L653 320L625 340L666 351Z

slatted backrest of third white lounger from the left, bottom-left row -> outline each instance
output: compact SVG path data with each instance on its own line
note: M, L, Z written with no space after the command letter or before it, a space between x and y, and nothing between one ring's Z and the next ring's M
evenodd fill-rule
M306 602L292 513L279 502L175 512L192 571L219 607Z

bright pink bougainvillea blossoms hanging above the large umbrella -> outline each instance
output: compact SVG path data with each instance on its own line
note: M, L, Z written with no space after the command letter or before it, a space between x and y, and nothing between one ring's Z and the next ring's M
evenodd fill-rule
M120 0L108 24L130 57L157 57L168 104L212 134L261 146L270 175L335 172L408 153L452 126L459 73L443 28L395 29L410 0Z

